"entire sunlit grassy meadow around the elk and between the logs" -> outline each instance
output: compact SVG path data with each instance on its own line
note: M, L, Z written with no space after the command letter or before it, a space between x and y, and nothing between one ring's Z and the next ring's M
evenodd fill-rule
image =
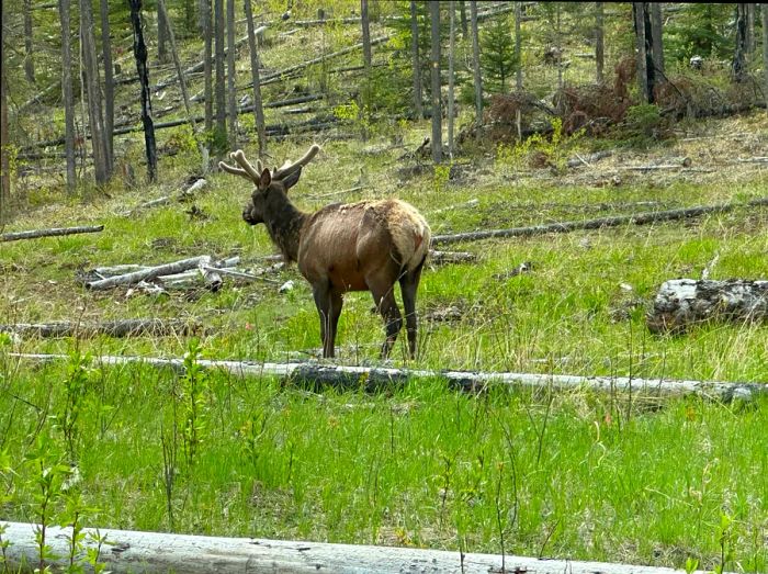
M750 130L765 144L766 122L758 114L711 122L694 135L733 146L730 132ZM427 128L416 125L406 146ZM272 154L280 162L306 145L275 145ZM701 142L620 149L594 170L557 175L477 160L455 180L430 170L403 182L400 149L328 142L294 195L306 210L396 195L420 209L434 234L765 195L759 166L696 176L621 170L655 157L697 157L703 148L693 146ZM103 223L100 234L1 247L3 322L160 317L203 329L194 338L0 335L0 518L68 524L79 508L87 526L123 529L768 571L765 398L726 405L493 385L470 395L439 379L376 394L317 392L202 371L199 358L314 359L318 319L295 267L266 275L294 280L287 293L226 278L218 293L202 284L160 295L87 291L78 273L97 266L196 255L239 255L249 270L271 265L264 228L240 221L249 190L224 173L210 177L195 216L189 203L125 216L182 187L183 156L161 169L159 185L56 198L13 224ZM615 173L618 185L600 183ZM362 190L338 193L358 178L368 182ZM391 364L767 383L765 324L711 323L658 336L644 319L667 279L699 278L705 268L713 279L768 277L766 228L765 209L736 209L451 246L477 262L427 268L419 357L406 363L400 339ZM530 272L510 273L522 262ZM338 362L377 364L383 328L372 306L368 293L346 299ZM69 360L33 363L14 352ZM89 361L100 354L185 354L188 369Z

